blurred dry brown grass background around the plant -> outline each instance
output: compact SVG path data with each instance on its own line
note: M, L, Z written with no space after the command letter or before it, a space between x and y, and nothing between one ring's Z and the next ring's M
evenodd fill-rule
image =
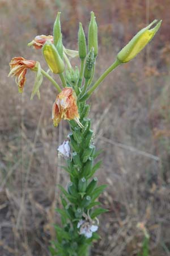
M130 63L110 74L91 98L97 148L103 149L100 197L108 213L100 218L101 240L94 256L141 253L142 222L150 234L151 256L170 255L170 2L169 0L0 0L0 255L48 256L59 223L57 183L65 186L57 147L69 126L51 121L56 90L44 79L41 100L30 100L33 72L24 93L8 78L11 58L38 60L41 50L28 48L36 35L51 35L61 11L63 43L78 49L78 22L87 35L90 11L99 26L95 79L117 52L146 24L163 19L154 40ZM76 60L73 65L78 64Z

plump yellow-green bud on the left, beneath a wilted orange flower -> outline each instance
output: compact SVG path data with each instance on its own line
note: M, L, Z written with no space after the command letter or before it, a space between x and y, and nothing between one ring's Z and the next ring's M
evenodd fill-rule
M59 74L64 71L65 64L59 56L59 53L54 44L46 42L42 47L42 53L46 63L48 64L48 67L54 74Z

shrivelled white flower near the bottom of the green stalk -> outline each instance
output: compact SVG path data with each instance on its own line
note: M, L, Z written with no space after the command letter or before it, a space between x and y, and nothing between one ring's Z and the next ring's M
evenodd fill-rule
M87 238L92 237L92 233L96 232L98 226L92 225L91 221L80 220L77 224L77 228L80 228L79 234L83 234Z

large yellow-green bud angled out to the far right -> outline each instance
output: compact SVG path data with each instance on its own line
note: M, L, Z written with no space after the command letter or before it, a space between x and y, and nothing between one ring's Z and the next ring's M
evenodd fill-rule
M155 24L157 20L151 22L147 27L143 28L141 31L135 35L130 42L123 48L117 55L117 59L121 61L121 63L126 63L133 59L142 49L150 42L150 40L154 37L156 32L159 30L159 27L162 23L162 20L156 24L156 26L152 29L149 29L153 24Z

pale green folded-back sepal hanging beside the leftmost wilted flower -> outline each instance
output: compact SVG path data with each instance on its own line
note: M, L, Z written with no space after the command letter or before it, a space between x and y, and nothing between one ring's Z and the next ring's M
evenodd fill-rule
M31 93L31 100L33 99L35 94L37 94L37 96L40 100L40 91L39 91L39 89L40 89L40 86L41 86L42 80L43 80L43 76L41 74L41 65L38 61L37 61L36 65L37 65L37 74L36 74L35 82L34 82L32 93Z

